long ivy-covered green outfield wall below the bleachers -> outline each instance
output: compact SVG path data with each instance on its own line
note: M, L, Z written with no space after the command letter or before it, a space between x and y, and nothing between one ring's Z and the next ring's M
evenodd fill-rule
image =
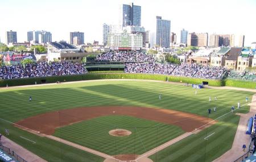
M188 84L202 84L208 82L210 86L234 86L238 88L255 89L256 82L242 80L212 80L203 78L190 78L178 76L166 76L162 74L131 74L131 73L88 73L75 76L56 76L38 78L20 78L14 80L0 80L0 86L34 85L44 83L54 83L56 81L82 81L82 80L102 80L102 79L139 79L139 80L158 80L183 82Z

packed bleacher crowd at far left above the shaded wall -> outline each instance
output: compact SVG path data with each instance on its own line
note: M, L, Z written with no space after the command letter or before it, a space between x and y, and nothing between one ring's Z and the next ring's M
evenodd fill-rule
M33 63L27 65L12 65L0 68L0 79L30 78L65 76L72 74L88 73L83 64L60 62L60 63Z

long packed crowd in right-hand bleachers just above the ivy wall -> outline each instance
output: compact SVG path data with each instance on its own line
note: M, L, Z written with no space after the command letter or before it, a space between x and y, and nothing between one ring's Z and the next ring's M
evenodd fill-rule
M228 72L223 67L208 67L197 64L126 63L125 73L168 74L197 78L221 79Z

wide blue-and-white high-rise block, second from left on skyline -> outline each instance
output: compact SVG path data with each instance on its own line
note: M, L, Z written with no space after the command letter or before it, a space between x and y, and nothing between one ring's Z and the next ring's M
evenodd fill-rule
M32 41L34 44L47 43L52 41L52 34L48 31L28 31L27 41Z

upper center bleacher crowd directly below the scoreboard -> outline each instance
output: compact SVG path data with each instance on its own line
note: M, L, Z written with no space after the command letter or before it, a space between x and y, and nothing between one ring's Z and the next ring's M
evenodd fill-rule
M152 55L146 55L141 51L109 51L99 55L96 61L109 62L155 62Z

